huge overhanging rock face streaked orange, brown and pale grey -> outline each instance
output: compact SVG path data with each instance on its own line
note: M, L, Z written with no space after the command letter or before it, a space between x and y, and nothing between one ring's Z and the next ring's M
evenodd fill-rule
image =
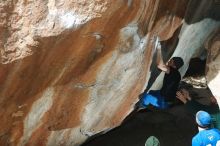
M0 145L76 146L119 125L148 83L154 37L176 48L184 73L220 26L219 6L218 0L1 1Z

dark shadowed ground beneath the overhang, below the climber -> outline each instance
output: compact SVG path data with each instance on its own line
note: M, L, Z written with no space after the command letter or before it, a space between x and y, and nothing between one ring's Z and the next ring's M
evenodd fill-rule
M196 132L194 118L184 106L168 111L141 110L120 127L90 139L82 146L143 146L151 135L159 139L161 146L189 146Z

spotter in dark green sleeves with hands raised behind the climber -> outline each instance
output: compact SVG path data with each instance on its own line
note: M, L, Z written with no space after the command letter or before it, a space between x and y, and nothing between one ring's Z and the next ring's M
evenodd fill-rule
M182 101L189 113L195 115L198 111L203 110L210 113L212 118L212 126L220 129L220 110L215 97L210 97L210 104L203 105L190 97L189 91L181 89L177 91L176 97Z

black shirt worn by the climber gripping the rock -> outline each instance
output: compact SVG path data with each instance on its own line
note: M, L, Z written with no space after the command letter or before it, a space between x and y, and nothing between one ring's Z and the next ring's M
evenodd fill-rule
M163 86L160 90L160 94L165 98L165 101L173 101L175 99L180 80L179 71L171 67L169 74L164 76Z

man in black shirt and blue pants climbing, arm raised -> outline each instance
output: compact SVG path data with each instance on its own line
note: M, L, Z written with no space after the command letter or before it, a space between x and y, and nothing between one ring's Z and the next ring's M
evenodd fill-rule
M151 90L149 93L144 93L140 101L140 108L153 105L159 109L165 109L172 105L176 98L176 91L181 80L178 69L183 66L184 62L181 57L173 57L167 64L164 64L159 39L157 39L155 44L157 49L157 67L165 72L163 86L160 90Z

